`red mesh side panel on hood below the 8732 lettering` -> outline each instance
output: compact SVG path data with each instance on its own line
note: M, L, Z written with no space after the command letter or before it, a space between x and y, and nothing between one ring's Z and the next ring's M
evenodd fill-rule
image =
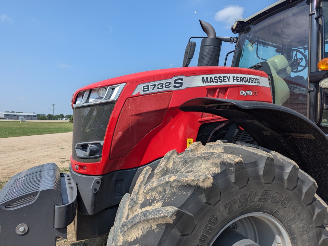
M126 156L147 133L160 125L172 92L128 98L118 117L110 158Z

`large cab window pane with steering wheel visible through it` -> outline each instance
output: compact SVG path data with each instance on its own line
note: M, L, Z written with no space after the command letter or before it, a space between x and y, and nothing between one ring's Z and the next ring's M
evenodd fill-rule
M309 5L297 2L242 30L233 66L260 64L271 78L273 102L306 116Z

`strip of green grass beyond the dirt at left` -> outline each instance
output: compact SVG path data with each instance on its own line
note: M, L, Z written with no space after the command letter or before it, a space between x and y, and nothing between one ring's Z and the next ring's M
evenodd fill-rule
M68 121L0 121L0 138L42 135L50 133L68 133L72 131L73 124Z

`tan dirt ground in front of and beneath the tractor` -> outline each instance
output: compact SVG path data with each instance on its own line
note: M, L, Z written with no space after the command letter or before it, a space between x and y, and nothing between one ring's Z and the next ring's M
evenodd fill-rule
M0 185L11 176L28 168L54 162L61 169L67 169L72 154L72 133L0 138ZM67 171L66 171L67 172ZM0 187L0 188L1 188ZM57 246L106 245L107 235L76 241L73 224L67 228L67 239Z

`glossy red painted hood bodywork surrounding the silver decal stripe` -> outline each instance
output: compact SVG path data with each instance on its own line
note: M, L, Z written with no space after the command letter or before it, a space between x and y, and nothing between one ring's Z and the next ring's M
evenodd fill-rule
M72 167L75 168L75 165L78 165L78 170L76 170L76 172L81 174L101 175L113 172L115 170L129 169L145 165L151 161L163 157L168 151L173 149L175 149L178 153L184 151L186 148L187 138L193 138L195 141L199 126L202 123L225 120L216 115L202 118L202 113L181 112L178 107L182 103L192 98L207 96L214 98L272 102L269 87L248 85L248 83L243 83L240 85L209 84L208 86L191 87L176 91L157 92L154 94L133 94L136 87L141 83L171 79L177 75L193 76L219 73L253 74L265 78L268 77L264 72L251 69L227 67L190 67L130 74L104 80L79 89L77 92L101 86L127 83L115 104L113 113L109 120L104 138L101 161L97 163L79 163L71 159ZM248 93L245 96L241 95L241 90L257 90L258 93L257 95ZM165 94L167 96L162 99L159 97L161 94ZM74 98L75 97L76 92L74 94ZM141 98L152 99L143 101ZM136 104L136 101L133 102L134 100L140 100L140 102L138 102L139 104ZM128 105L127 102L130 102L129 107L126 106ZM157 107L155 107L156 105ZM138 108L139 111L133 112L136 108ZM130 116L126 116L124 118L125 120L123 120L123 109L126 111L126 113L124 113L125 115L132 115L132 117L130 118ZM155 117L149 116L156 112L157 115ZM147 117L149 118L148 120L151 121L150 123L147 121L142 121L142 123L138 121L138 117L140 119L142 117L141 115L146 114L148 114ZM151 127L149 125L151 125ZM132 128L131 130L130 127ZM133 129L137 129L136 132L132 133L131 131L133 131ZM119 132L122 132L121 136ZM127 144L128 141L129 144ZM122 156L126 153L128 154L122 157L115 157L115 155L112 157L112 154L114 153L111 151L114 149L114 146L112 147L114 144L116 146L116 156ZM125 150L125 147L127 147L127 150Z

